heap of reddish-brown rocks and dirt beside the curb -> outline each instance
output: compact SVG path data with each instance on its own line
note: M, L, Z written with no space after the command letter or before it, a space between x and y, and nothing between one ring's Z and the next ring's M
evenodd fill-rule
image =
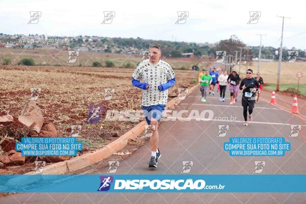
M16 127L28 130L29 134L22 135L22 137L57 137L56 127L53 123L44 122L41 110L36 105L36 100L29 100L18 118L11 115L0 115L0 168L8 165L22 165L27 161L33 162L36 159L46 162L70 159L70 157L22 157L21 152L15 151L16 138L8 137L8 135L11 136L8 132L11 132L12 129L16 132Z

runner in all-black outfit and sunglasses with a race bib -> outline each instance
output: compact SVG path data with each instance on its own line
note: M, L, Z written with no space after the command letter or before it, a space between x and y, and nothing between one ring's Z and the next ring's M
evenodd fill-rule
M259 88L259 83L255 78L252 78L253 70L248 69L246 71L246 78L243 79L240 83L239 89L243 90L242 92L242 107L243 107L243 117L244 117L244 124L248 125L247 123L247 109L249 111L249 121L252 120L252 112L255 104L255 96L256 92ZM257 87L257 88L255 88Z

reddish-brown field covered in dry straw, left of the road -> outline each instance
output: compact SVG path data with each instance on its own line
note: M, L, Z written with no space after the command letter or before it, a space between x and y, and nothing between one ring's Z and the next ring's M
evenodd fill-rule
M46 122L53 122L57 129L65 133L71 124L82 124L82 135L96 140L104 132L119 131L123 134L135 123L102 121L87 124L88 106L103 105L107 110L140 109L141 90L131 83L134 69L54 67L54 66L0 66L0 113L18 116L30 97L30 88L41 88L38 106ZM177 83L169 94L177 88L192 86L197 72L176 70ZM111 100L104 100L104 89L114 88ZM97 130L102 125L104 130ZM87 135L85 135L87 134Z

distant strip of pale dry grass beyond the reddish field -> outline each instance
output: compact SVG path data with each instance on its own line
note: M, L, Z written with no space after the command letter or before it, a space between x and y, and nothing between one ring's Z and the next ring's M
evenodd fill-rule
M167 53L163 53L164 57L167 57ZM142 56L140 55L127 55L127 54L113 54L113 53L88 53L80 52L80 55L75 63L66 63L68 60L68 51L60 49L0 49L0 63L4 58L10 58L12 65L17 63L22 58L33 58L36 65L47 64L61 67L79 66L80 63L83 66L92 66L93 61L98 61L105 66L106 60L112 60L115 63L115 67L124 67L126 63L130 63L132 67L136 67L140 62ZM207 67L211 63L208 63L207 59L182 59L182 58L166 58L173 69L191 69L191 66L198 64L199 67Z

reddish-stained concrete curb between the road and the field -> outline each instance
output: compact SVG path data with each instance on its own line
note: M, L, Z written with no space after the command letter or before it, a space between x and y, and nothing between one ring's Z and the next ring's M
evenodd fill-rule
M193 92L196 88L199 87L199 84L191 87L189 89L188 95ZM166 109L173 107L173 105L179 105L182 100L176 100L177 97L173 98L167 103ZM127 145L129 139L135 139L144 131L144 125L146 124L145 120L141 121L130 131L127 131L125 134L120 136L115 141L109 143L107 146L97 149L94 152L84 154L79 157L72 158L63 162L54 163L43 168L41 174L65 174L75 170L82 169L94 163L97 163L101 160L104 160L111 156L114 152L122 149ZM37 174L33 171L25 174Z

